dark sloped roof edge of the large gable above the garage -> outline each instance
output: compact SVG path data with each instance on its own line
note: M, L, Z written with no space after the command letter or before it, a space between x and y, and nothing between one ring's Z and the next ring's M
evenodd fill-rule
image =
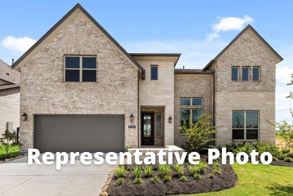
M143 68L122 48L122 46L117 43L117 41L108 34L108 32L79 4L77 3L61 20L59 20L44 36L42 36L28 51L26 51L11 67L18 69L21 62L35 50L55 29L57 29L71 14L73 14L77 9L79 9L88 19L93 22L93 24L98 27L100 31L140 70L142 71Z

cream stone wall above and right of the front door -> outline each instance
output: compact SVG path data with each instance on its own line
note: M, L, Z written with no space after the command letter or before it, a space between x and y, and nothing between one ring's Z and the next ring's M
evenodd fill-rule
M174 143L174 124L168 122L174 112L174 62L139 61L146 79L139 81L140 106L165 106L165 145ZM151 80L151 65L158 65L158 80Z

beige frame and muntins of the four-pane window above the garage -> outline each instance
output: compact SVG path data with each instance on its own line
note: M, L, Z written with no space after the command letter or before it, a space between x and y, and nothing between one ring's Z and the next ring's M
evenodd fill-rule
M79 68L66 68L66 57L79 57ZM96 69L82 68L82 57L95 57L97 59L96 55L64 55L64 66L63 66L64 67L64 70L63 70L64 82L78 82L78 81L66 81L66 70L79 70L79 82L84 82L82 81L83 70L96 70L96 81L91 81L91 82L97 82L97 64L96 64Z

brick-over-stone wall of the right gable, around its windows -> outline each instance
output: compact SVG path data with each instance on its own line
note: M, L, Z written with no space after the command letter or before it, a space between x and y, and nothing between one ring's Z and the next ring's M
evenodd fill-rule
M216 144L231 143L232 111L258 110L259 139L275 143L275 60L248 33L243 33L209 68L215 70ZM239 67L239 81L232 81L231 68ZM242 67L249 67L249 81L242 81ZM252 68L260 67L260 81L252 81Z

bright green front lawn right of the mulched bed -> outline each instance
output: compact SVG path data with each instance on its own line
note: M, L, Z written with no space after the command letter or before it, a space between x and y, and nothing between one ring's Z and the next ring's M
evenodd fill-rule
M231 165L238 183L235 187L219 192L192 194L189 196L235 196L235 195L293 195L293 168L285 166L253 165L247 163ZM196 188L196 187L195 187Z

